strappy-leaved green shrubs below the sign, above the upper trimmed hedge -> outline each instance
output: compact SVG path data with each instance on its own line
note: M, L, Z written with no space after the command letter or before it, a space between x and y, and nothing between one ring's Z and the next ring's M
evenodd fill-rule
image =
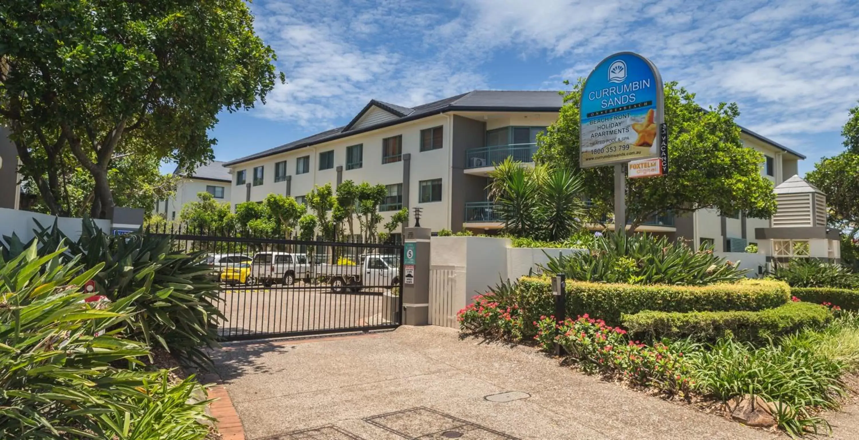
M567 279L629 284L714 284L736 281L748 272L682 241L649 234L609 234L595 239L589 253L549 256L544 272L563 273Z

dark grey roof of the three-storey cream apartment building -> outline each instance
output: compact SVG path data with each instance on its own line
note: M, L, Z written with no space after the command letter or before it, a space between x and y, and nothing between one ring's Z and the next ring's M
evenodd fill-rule
M383 121L374 125L368 125L359 129L352 129L352 125L355 125L358 119L361 119L362 115L366 113L370 107L374 106L380 107L396 115L398 118ZM451 96L449 98L433 101L417 107L402 107L383 101L371 100L347 125L328 131L322 131L321 133L314 134L313 136L298 139L297 141L283 144L269 150L260 151L259 153L254 153L250 156L244 156L236 159L235 161L226 162L224 163L224 166L229 167L241 162L253 161L254 159L273 156L286 151L298 150L314 144L321 144L338 138L346 138L365 131L372 131L382 127L400 124L413 119L425 118L439 113L454 111L557 112L562 106L564 106L563 95L559 94L557 91L544 90L472 90L471 92L464 93L462 95ZM758 138L768 144L775 145L782 150L805 159L805 156L802 156L794 150L789 150L787 147L764 138L753 131L746 130L746 128L741 126L740 129L754 138Z

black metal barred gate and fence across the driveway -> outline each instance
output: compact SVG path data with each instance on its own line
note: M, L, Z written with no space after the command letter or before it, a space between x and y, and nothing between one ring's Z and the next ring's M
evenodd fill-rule
M301 241L248 231L149 228L174 248L204 252L224 315L223 339L259 339L398 327L403 246Z

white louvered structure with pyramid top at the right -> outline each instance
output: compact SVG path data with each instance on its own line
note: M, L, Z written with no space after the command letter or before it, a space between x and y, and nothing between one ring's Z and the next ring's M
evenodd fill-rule
M775 188L778 210L772 217L773 228L826 225L826 196L812 184L795 175Z

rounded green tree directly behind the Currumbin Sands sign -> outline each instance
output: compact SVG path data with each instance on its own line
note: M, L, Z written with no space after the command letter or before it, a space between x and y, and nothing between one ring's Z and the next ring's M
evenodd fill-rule
M590 216L613 211L613 167L579 168L579 102L582 80L564 96L557 121L538 137L537 162L582 173L583 193L593 205ZM734 123L736 104L721 103L709 110L677 83L665 86L668 126L667 176L627 180L626 209L631 228L648 217L682 214L710 208L725 214L746 211L748 217L776 212L772 182L760 173L764 156L743 147Z

